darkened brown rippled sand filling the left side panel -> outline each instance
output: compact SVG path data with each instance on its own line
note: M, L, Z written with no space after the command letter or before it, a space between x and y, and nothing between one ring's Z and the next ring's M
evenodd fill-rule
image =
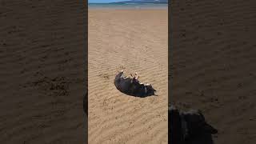
M83 2L0 4L0 143L86 143Z

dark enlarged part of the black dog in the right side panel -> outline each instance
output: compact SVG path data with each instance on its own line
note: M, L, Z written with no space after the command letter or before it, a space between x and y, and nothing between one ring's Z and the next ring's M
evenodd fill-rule
M218 130L206 123L200 110L180 112L174 106L168 108L169 140L175 144L213 144L211 134Z

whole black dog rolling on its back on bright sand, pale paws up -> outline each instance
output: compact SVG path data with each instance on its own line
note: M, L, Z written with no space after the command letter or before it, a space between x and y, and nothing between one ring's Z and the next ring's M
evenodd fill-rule
M155 95L154 92L156 91L151 84L139 82L137 73L135 73L135 76L131 74L131 78L129 78L124 76L123 70L115 76L114 86L122 93L138 97Z

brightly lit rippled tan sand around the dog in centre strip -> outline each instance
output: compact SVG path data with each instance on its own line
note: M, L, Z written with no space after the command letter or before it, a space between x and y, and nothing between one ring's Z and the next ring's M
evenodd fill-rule
M167 143L167 10L89 10L88 20L89 143ZM158 96L119 92L121 69Z

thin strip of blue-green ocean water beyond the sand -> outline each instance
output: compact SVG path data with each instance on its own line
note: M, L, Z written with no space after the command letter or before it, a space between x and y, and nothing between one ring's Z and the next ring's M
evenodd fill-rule
M168 9L164 3L89 3L89 9Z

